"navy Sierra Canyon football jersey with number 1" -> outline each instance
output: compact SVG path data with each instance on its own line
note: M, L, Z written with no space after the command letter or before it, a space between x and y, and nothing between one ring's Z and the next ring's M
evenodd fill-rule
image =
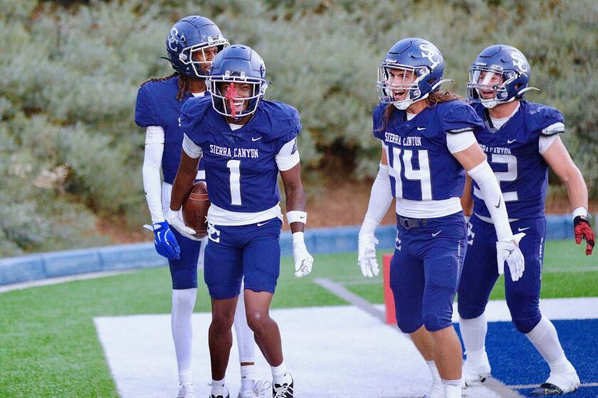
M184 134L203 151L211 203L243 213L278 205L275 157L299 134L297 109L261 100L251 120L233 131L209 97L198 97L184 104L181 122Z

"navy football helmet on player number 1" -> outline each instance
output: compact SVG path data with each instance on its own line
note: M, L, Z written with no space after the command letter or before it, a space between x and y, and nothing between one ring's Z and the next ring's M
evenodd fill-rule
M236 93L235 85L246 83L253 85L253 90L249 97L241 97ZM219 114L241 119L256 112L266 88L266 65L260 55L247 45L231 45L214 58L208 91L212 106Z

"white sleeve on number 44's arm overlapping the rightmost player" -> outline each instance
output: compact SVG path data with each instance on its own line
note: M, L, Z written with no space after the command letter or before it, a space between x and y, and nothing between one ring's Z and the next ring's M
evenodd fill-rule
M505 199L503 193L500 192L500 185L498 185L488 161L483 161L467 173L480 187L482 198L494 223L498 240L513 239Z

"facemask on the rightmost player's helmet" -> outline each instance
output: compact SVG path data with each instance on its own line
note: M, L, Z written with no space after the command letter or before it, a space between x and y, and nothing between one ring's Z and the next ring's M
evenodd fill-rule
M491 84L493 77L497 77L500 83ZM480 102L483 107L493 108L503 102L511 102L515 95L509 95L510 83L518 78L518 72L503 70L498 66L486 67L473 65L469 68L469 80L467 82L468 97L472 102ZM491 98L483 98L483 91L493 91Z

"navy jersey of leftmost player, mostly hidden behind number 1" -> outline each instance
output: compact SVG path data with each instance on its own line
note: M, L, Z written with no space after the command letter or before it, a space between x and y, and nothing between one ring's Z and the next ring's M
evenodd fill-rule
M177 176L183 143L180 127L181 107L192 95L187 94L182 102L177 100L179 77L160 82L149 82L140 87L135 104L135 123L139 127L159 126L164 129L164 153L162 173L164 182L172 184ZM209 93L205 94L209 97ZM200 163L199 170L203 170Z

